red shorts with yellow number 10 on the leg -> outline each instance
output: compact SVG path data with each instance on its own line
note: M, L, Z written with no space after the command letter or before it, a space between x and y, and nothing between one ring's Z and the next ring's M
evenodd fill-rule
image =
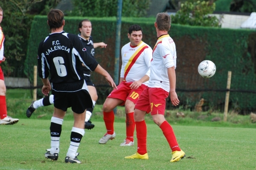
M117 86L117 89L113 89L113 91L108 95L107 98L118 98L124 101L122 104L120 104L120 106L124 105L126 100L130 100L134 104L136 104L140 94L143 92L143 90L147 86L145 84L141 84L141 86L135 90L135 89L131 89L130 87L131 84L132 82L125 83L125 81L122 81Z

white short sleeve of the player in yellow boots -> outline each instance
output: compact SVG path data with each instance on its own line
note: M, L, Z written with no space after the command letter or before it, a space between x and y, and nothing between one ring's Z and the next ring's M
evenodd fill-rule
M159 46L159 51L160 55L162 56L163 64L165 65L166 68L170 68L172 66L175 66L174 63L174 47L171 46L166 46L165 44L161 44Z

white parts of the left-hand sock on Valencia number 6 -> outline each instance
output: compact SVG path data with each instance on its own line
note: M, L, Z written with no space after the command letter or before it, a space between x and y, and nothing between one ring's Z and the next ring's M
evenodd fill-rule
M62 125L63 119L61 118L56 118L56 117L52 117L51 118L51 122L55 123L55 124L60 124ZM52 137L51 136L51 149L50 149L50 153L59 153L60 152L60 137Z

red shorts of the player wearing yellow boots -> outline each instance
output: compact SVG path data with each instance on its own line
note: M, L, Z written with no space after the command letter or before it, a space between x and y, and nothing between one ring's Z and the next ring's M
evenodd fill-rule
M135 105L135 109L151 112L151 115L158 114L164 115L166 107L166 98L169 92L161 88L146 87L141 93L140 99Z

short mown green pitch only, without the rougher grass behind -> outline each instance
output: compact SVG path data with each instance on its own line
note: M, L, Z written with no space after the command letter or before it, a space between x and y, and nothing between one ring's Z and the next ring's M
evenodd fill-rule
M179 170L255 170L255 129L173 125L186 157L170 163L171 150L160 128L148 121L149 160L130 160L133 147L120 147L125 139L125 123L115 123L116 138L98 144L105 125L94 122L86 130L78 152L82 164L66 164L64 158L70 142L73 121L64 120L58 161L44 158L50 147L49 120L20 119L18 124L0 126L0 169L8 170L108 170L108 169L179 169Z

